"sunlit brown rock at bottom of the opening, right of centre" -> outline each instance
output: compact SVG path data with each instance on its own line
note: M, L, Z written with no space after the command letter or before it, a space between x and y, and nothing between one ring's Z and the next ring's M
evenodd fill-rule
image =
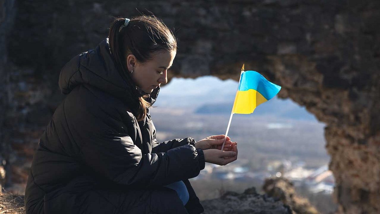
M278 198L290 206L294 214L318 214L309 200L297 196L293 184L288 179L267 178L263 190L269 197Z

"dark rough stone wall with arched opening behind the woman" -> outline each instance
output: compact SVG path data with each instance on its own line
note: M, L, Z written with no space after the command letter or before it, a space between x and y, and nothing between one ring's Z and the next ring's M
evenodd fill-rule
M139 14L136 8L143 13L147 8L178 38L171 75L238 79L245 63L281 85L280 97L306 106L326 123L338 212L380 212L380 1L16 3L9 41L0 33L0 49L8 44L11 64L0 91L8 97L0 132L13 149L3 148L12 165L7 170L12 187L20 184L22 190L33 149L62 100L60 68L105 38L110 15L130 17Z

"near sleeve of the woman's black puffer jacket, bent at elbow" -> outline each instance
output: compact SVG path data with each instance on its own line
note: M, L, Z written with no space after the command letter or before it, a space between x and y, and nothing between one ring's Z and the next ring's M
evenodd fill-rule
M119 133L93 135L81 152L94 171L122 185L166 185L194 178L204 168L203 151L193 145L142 155L130 136Z

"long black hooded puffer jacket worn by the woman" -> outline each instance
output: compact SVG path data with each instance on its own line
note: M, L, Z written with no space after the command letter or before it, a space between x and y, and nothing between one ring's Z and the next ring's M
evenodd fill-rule
M67 97L57 107L33 156L27 214L190 213L203 208L188 181L204 168L193 138L158 143L148 114L136 121L130 87L116 70L108 38L61 70ZM147 100L154 103L159 88ZM184 206L163 185L184 181Z

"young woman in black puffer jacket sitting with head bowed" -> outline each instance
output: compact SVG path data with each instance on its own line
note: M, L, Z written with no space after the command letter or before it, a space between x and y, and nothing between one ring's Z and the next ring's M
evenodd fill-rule
M204 163L237 159L224 135L158 143L149 115L177 51L154 16L117 18L95 50L71 59L55 110L33 157L27 214L203 212L188 181ZM177 121L177 124L180 121Z

